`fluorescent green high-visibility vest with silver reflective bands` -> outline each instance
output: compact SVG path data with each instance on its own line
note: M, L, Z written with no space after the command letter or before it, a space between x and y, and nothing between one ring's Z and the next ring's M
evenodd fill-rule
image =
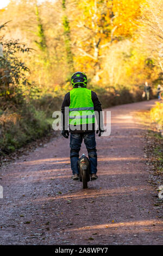
M70 91L69 124L93 124L95 112L91 99L91 90L74 88Z

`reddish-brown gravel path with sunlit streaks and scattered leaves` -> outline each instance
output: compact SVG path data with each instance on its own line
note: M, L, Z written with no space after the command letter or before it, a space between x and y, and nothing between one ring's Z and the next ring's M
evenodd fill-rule
M111 135L96 137L98 180L87 190L70 179L69 139L60 136L3 168L1 245L161 245L161 212L143 159L145 128L133 114L153 104L108 109Z

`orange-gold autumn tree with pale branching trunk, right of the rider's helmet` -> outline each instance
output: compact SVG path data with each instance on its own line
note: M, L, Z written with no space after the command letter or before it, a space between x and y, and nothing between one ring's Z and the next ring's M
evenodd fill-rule
M80 69L93 70L96 82L103 72L102 59L106 48L113 42L131 37L139 25L136 19L141 15L141 2L86 0L78 3L78 15L74 13L74 16L80 19L72 22L72 27L77 27L74 38L77 48L75 59ZM122 22L124 17L125 22Z

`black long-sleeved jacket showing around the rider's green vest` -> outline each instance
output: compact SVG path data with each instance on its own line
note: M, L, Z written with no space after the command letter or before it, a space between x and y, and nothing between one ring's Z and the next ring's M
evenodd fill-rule
M77 87L74 87L74 88L77 88ZM92 102L93 102L94 110L98 112L98 118L96 117L98 127L103 127L103 117L102 117L101 103L98 100L97 94L93 91L91 91L91 99L92 99ZM64 101L62 102L62 106L61 106L62 130L68 130L68 113L65 113L65 107L69 107L69 106L70 106L70 92L68 92L65 95ZM71 127L69 126L70 132L71 133L80 133L80 132L95 131L95 124L92 124L92 129L91 130L89 130L89 125L88 124L86 124L85 130L82 130L82 125L76 125L76 127L77 127L77 129L72 131Z

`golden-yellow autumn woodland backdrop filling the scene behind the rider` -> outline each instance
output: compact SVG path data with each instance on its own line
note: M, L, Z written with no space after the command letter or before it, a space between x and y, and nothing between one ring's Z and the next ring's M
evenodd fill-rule
M103 107L142 100L145 81L155 96L163 80L162 5L161 0L11 0L0 10L0 25L7 25L1 29L0 119L9 106L13 120L20 118L22 104L41 126L42 117L51 119L60 109L72 72L79 70ZM28 124L23 125L24 132ZM35 137L33 126L30 135L28 140Z

